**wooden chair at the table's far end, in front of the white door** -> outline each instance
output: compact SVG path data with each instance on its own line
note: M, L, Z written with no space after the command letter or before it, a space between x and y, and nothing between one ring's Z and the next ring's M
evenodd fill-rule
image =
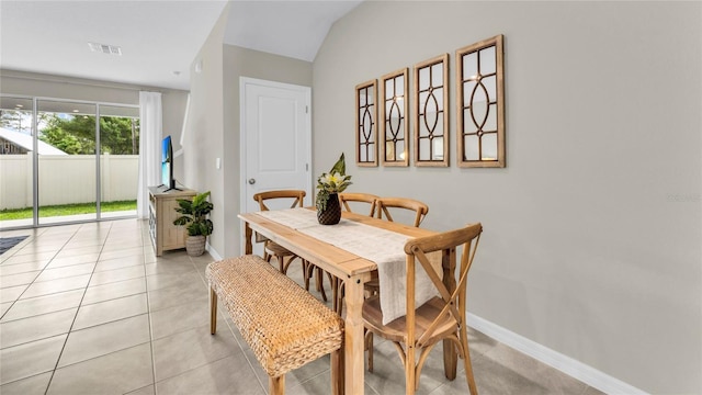
M259 207L261 208L261 211L269 211L270 210L269 204L271 204L270 201L272 200L283 200L283 201L292 202L292 204L290 205L290 208L294 208L294 207L303 206L303 202L305 200L306 194L307 193L303 190L275 190L275 191L259 192L253 195L253 200L259 203ZM283 202L282 204L285 204L285 202ZM290 268L290 264L296 258L299 258L295 253L286 249L285 247L282 247L267 239L263 244L263 259L265 259L267 262L270 262L272 257L275 257L275 259L278 260L279 270L283 274L286 274L287 268ZM303 276L305 280L305 289L309 290L309 278L307 276L308 264L303 259L301 259L301 261L303 264ZM324 298L326 301L327 296L324 295Z

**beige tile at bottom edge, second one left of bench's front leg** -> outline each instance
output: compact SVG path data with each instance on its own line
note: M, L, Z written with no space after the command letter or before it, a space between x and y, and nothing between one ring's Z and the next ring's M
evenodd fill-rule
M47 394L125 394L152 383L148 343L57 369Z

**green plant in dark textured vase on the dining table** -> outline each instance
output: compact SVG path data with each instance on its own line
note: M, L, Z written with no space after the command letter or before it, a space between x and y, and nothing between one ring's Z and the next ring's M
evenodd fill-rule
M317 221L321 225L336 225L341 219L341 205L338 193L343 192L351 184L351 176L347 176L347 165L341 157L328 173L321 173L317 179Z

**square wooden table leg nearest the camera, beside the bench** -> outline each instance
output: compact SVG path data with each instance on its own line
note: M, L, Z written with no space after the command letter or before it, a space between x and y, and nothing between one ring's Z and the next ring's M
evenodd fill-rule
M347 317L344 326L344 390L347 395L363 394L363 280L344 282Z

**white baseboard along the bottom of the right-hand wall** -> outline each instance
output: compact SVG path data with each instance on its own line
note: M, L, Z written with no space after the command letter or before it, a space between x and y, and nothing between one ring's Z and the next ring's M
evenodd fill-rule
M468 313L468 326L605 394L644 395L623 381Z

